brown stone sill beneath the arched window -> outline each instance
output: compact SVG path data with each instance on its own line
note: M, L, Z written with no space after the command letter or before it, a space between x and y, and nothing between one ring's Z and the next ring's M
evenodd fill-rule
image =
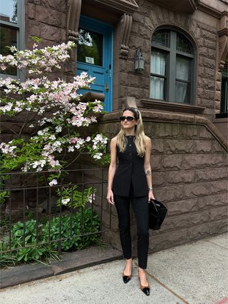
M152 99L141 99L143 108L152 108L160 111L172 111L182 113L194 113L199 114L204 111L202 106L191 106L183 103L170 103L167 101L154 101Z

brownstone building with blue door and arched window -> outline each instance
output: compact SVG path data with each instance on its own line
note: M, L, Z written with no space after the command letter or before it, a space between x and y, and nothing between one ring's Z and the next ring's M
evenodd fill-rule
M29 48L30 36L78 41L62 76L96 77L91 96L104 99L98 128L109 138L121 109L142 111L155 196L169 211L150 250L227 230L227 1L7 0L0 12L2 54L9 41ZM117 233L106 238L119 246Z

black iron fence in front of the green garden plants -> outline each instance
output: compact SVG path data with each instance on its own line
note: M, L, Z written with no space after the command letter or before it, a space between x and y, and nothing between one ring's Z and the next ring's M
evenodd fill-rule
M105 199L107 169L61 171L53 186L48 184L49 174L0 174L0 253L52 243L61 253L66 250L66 240L71 245L80 240L83 248L83 242L93 243L95 235L116 230Z

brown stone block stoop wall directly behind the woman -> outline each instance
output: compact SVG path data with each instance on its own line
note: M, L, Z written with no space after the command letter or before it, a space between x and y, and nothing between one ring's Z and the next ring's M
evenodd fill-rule
M191 123L189 116L166 119L165 113L150 118L143 113L145 133L152 138L152 178L155 198L168 208L162 228L150 230L150 252L180 245L207 235L227 230L227 149L217 137L216 129L209 128L200 118ZM106 114L100 122L100 131L112 138L119 128L118 113ZM162 118L163 117L163 121ZM207 121L204 119L204 122ZM215 131L215 132L214 132ZM93 165L94 166L94 165ZM89 168L84 164L82 168ZM98 181L100 173L89 173L88 181ZM107 178L107 171L105 172ZM107 181L107 179L106 179ZM103 189L103 229L117 248L120 248L118 218L115 207L106 201ZM101 192L97 192L97 210L100 211ZM132 212L132 238L136 254L136 226Z

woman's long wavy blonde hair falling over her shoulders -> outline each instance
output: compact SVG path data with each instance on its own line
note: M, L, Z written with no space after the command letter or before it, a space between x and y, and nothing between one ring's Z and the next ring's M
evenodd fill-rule
M135 146L138 152L138 156L143 157L145 155L145 133L142 123L142 115L138 108L125 108L123 112L131 111L134 117L138 120L137 125L135 125ZM120 148L120 152L124 152L127 146L127 139L125 137L125 130L121 125L120 132L117 134L117 145Z

